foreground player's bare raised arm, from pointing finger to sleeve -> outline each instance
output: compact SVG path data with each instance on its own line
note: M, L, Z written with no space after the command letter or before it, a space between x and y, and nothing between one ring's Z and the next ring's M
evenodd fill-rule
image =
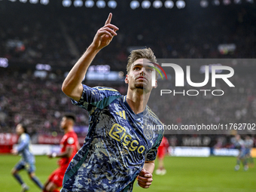
M93 38L93 43L87 48L83 56L78 59L78 62L75 63L72 70L69 72L69 75L66 77L62 84L62 91L67 96L79 101L83 92L82 81L84 75L87 72L90 63L93 61L93 58L103 47L107 46L114 35L117 35L116 31L118 30L117 26L111 24L112 14L108 15L108 19L105 22L105 26L100 28L95 37Z

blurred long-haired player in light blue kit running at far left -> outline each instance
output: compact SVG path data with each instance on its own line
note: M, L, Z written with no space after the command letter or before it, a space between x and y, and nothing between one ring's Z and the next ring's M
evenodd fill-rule
M17 124L16 133L20 136L19 145L17 148L11 150L12 154L21 154L22 159L14 166L14 169L11 170L11 174L14 175L14 178L21 184L22 190L29 190L29 187L24 183L18 172L22 169L26 169L29 173L29 178L40 188L43 189L44 186L35 176L35 157L31 151L31 140L30 136L26 131L26 126L22 123Z

